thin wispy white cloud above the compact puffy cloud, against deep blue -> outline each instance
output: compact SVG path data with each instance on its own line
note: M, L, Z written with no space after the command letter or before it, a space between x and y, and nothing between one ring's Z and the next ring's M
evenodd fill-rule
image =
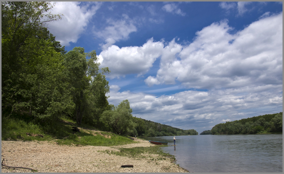
M118 21L107 20L106 23L108 23L108 26L103 30L95 32L97 37L105 39L106 43L101 44L103 50L106 50L117 41L128 39L130 33L137 31L134 21L128 15L122 14L122 17L123 19Z

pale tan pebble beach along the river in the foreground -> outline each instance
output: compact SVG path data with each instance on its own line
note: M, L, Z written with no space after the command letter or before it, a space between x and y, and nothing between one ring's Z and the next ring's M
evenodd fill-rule
M120 146L67 146L51 141L2 141L1 161L12 167L28 167L35 172L188 172L156 154L143 158L123 157L107 153L119 148L156 146L134 138L137 143ZM121 165L133 165L122 168ZM33 172L22 168L1 167L1 172Z

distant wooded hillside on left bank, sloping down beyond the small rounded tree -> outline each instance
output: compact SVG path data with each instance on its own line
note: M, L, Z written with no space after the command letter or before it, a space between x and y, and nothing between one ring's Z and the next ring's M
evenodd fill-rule
M174 128L169 125L163 125L150 120L133 117L133 122L136 124L136 136L180 136L180 135L198 135L194 129L183 130Z

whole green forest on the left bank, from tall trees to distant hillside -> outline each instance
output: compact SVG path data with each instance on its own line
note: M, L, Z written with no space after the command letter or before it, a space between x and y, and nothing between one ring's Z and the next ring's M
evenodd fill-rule
M198 135L132 116L128 100L109 104L108 67L96 51L66 51L47 24L60 20L54 4L41 1L1 3L2 123L24 120L51 126L62 118L128 136Z

